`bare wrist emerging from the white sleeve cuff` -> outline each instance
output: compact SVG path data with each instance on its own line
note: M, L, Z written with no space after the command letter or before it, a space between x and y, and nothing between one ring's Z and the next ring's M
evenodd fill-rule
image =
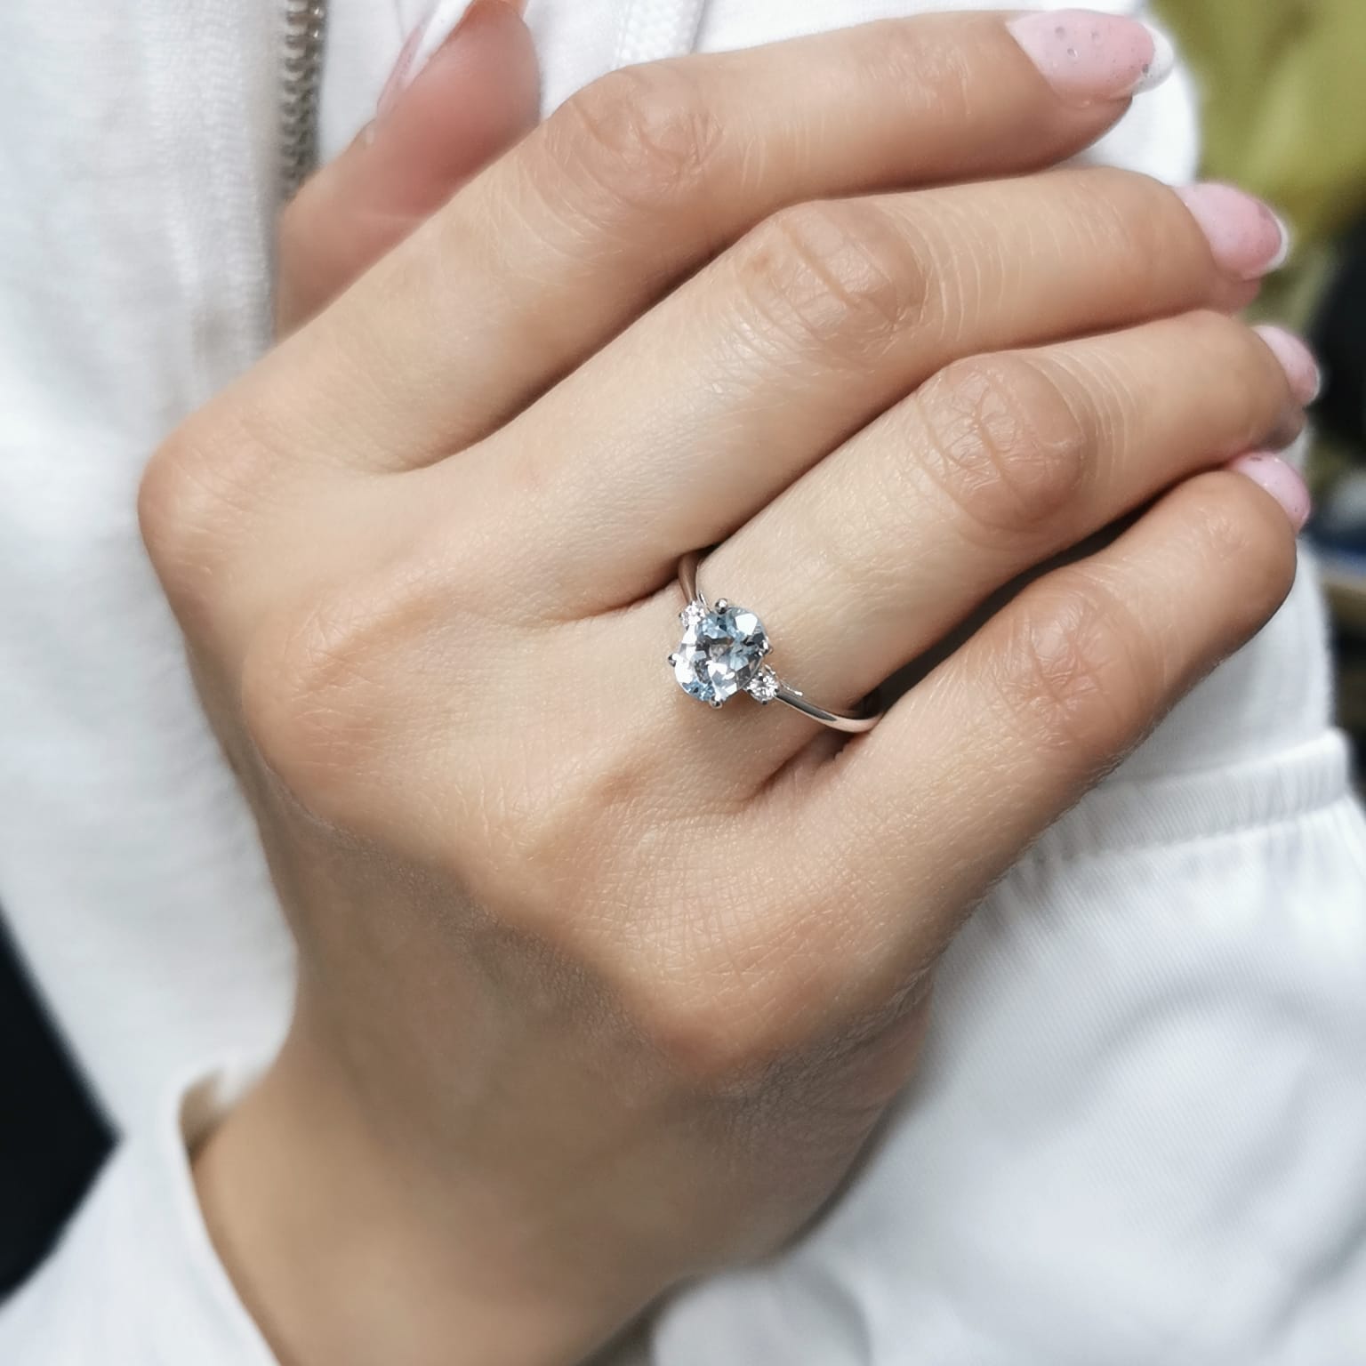
M527 1223L505 1173L415 1161L389 1119L296 1022L195 1158L210 1236L284 1366L572 1366L661 1288L576 1255L586 1214Z

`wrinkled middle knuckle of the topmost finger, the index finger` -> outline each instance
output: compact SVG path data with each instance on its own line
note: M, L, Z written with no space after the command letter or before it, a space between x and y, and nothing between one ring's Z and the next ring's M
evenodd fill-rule
M608 210L667 212L705 189L723 130L683 61L623 67L585 86L546 126L552 160Z

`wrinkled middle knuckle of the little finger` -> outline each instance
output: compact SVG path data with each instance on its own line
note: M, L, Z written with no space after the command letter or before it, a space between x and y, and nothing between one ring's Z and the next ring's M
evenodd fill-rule
M993 682L1030 743L1098 775L1156 717L1164 672L1121 597L1078 566L1022 594Z

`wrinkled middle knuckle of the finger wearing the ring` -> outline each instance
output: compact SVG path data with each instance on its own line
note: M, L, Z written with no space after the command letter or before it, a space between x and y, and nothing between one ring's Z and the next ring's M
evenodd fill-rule
M926 473L968 534L989 542L1057 520L1091 470L1094 414L1038 357L956 361L921 391L919 406Z

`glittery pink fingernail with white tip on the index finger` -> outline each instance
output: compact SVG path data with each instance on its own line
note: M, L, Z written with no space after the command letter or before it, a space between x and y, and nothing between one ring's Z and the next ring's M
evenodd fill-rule
M1005 27L1068 104L1142 94L1160 86L1175 66L1171 42L1138 19L1059 10L1020 15Z

